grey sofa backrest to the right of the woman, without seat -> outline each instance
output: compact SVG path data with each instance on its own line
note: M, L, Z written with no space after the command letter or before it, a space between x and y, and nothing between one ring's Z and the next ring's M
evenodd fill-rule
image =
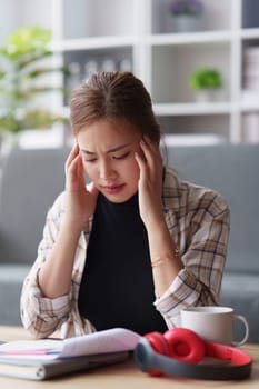
M259 272L259 146L167 147L167 163L181 178L219 191L231 212L227 270Z

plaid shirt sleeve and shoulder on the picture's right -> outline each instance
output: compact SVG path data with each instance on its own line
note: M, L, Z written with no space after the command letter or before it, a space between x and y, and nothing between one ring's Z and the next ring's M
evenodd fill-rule
M230 230L229 207L219 193L180 181L168 171L165 213L185 268L155 306L168 327L179 326L179 312L188 306L217 305Z

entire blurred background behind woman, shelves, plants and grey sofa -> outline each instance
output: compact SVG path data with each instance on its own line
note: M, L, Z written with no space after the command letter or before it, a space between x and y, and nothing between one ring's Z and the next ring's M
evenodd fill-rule
M21 286L64 188L70 91L97 70L139 77L169 166L228 199L222 302L258 342L258 0L0 0L0 325L21 323Z

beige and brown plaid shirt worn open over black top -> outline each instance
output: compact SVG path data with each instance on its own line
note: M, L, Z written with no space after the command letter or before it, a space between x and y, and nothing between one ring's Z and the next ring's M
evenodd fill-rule
M153 301L168 328L172 328L180 325L179 312L182 308L219 302L229 239L229 208L216 191L181 181L170 169L165 176L162 203L168 229L179 247L185 266L168 290ZM70 293L54 299L44 298L38 285L39 269L56 241L63 215L64 192L48 212L38 258L24 279L21 292L23 326L38 338L56 330L62 338L94 331L94 327L80 317L78 310L92 218L78 242Z

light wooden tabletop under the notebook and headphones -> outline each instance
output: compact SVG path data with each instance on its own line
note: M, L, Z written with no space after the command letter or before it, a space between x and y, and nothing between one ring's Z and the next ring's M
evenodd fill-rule
M10 341L18 339L31 339L22 328L0 326L0 340ZM150 377L140 371L133 360L104 367L86 373L63 376L49 381L18 380L16 378L0 377L1 389L8 389L18 385L19 389L40 388L69 388L69 389L190 389L190 388L221 388L221 389L259 389L259 345L246 345L242 347L253 357L251 378L242 381L206 381L190 380L173 377Z

